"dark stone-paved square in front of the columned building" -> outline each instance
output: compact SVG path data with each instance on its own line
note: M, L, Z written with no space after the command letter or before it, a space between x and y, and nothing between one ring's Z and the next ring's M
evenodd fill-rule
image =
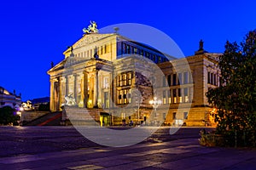
M199 128L168 132L115 148L73 127L0 127L0 169L256 169L256 150L202 147Z

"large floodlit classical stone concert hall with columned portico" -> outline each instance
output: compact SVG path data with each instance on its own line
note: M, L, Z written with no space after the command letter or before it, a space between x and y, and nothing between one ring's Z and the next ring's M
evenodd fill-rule
M117 33L93 32L63 54L48 71L51 111L68 105L105 126L214 125L206 93L218 87L220 54L207 53L202 42L195 55L175 59Z

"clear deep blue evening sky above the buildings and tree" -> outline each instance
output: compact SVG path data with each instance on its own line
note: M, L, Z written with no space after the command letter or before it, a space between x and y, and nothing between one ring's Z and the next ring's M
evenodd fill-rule
M227 40L240 42L256 28L256 1L3 1L0 7L0 86L22 100L49 96L50 62L64 58L90 20L98 28L140 23L165 32L186 56L203 39L208 52L222 53Z

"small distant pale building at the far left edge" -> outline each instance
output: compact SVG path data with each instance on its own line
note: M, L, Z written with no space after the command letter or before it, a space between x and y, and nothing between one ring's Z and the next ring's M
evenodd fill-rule
M10 93L3 87L0 87L0 107L10 106L11 108L19 108L21 105L20 94L16 95L15 90Z

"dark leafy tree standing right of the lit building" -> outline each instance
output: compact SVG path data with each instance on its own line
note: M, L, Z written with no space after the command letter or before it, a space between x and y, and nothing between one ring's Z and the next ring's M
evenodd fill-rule
M241 137L244 142L249 133L247 140L255 144L256 30L250 31L240 45L226 42L219 68L221 84L207 93L208 102L218 108L217 133Z

